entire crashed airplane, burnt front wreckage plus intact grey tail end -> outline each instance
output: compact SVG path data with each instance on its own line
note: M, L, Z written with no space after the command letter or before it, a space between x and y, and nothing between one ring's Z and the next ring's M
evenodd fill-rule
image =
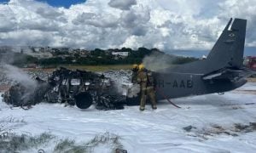
M246 26L247 20L230 19L207 59L153 71L156 99L166 99L172 104L169 99L223 94L244 85L247 77L256 74L243 65ZM37 80L37 88L32 92L29 92L31 88L20 84L10 88L4 95L4 101L12 105L35 105L44 100L65 102L81 109L95 103L97 109L103 110L139 103L140 85L135 83L130 87L126 84L126 94L119 94L119 88L110 78L88 71L62 68L55 71L48 82Z

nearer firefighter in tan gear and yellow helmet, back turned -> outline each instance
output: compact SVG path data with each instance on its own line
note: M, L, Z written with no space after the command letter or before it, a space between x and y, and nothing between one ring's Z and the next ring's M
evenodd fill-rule
M137 82L141 85L141 103L140 103L140 111L145 110L145 104L147 96L149 96L152 109L157 109L156 107L156 99L155 99L155 91L154 91L154 78L152 76L152 72L145 69L144 65L139 65L139 71L137 75Z

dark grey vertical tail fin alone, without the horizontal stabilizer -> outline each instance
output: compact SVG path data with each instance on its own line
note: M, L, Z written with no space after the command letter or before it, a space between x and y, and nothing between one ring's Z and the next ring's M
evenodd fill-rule
M207 65L211 65L211 69L242 66L246 26L247 20L230 19L207 56Z

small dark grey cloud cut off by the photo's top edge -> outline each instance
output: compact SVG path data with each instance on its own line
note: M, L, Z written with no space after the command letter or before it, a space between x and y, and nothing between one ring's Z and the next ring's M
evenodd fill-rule
M110 0L108 3L109 6L122 10L129 10L135 4L137 4L136 0Z

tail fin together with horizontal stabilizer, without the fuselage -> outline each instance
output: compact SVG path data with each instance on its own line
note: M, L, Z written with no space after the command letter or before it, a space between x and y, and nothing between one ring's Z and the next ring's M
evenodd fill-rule
M203 80L229 79L232 82L251 76L251 71L243 66L243 51L247 20L230 19L218 41L207 57L208 73Z

